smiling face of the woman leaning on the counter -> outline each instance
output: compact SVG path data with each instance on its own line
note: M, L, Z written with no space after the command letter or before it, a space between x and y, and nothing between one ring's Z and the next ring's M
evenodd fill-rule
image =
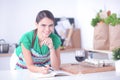
M36 26L40 38L47 38L54 30L54 22L47 17L43 18Z

